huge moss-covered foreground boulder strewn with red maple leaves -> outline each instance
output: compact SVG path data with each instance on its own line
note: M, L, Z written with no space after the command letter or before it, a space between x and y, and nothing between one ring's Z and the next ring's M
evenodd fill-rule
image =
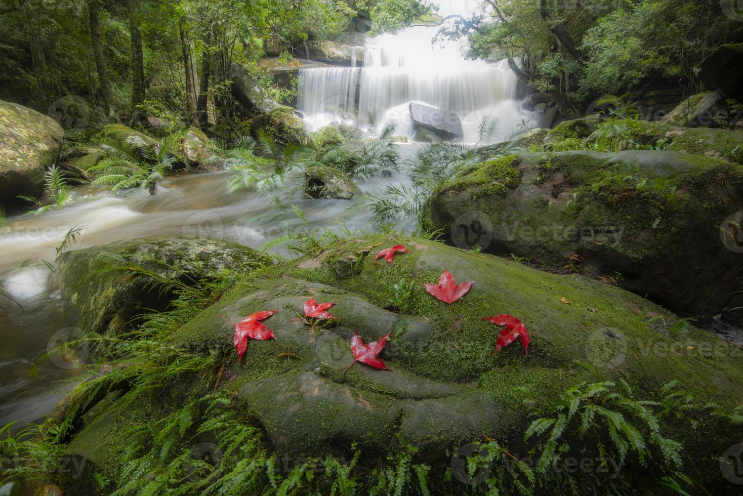
M398 253L392 264L374 259L377 250L398 243L409 253ZM423 287L438 281L444 269L458 282L474 281L470 292L451 306ZM397 298L399 311L392 312L389 302L400 279L414 284L409 296ZM331 313L338 321L309 326L297 319L309 298L335 302ZM240 362L233 326L221 317L236 322L269 309L279 310L264 321L276 340L251 341ZM497 313L524 319L531 332L528 356L518 343L493 353L500 328L481 317ZM391 370L356 364L344 373L353 361L349 341L354 332L364 342L390 333L380 357ZM510 453L525 454L524 432L531 421L554 415L555 394L586 383L623 382L637 399L661 399L663 385L678 380L678 388L689 395L684 401L716 402L728 410L743 397L738 347L640 296L580 275L540 272L400 236L340 241L313 258L259 270L165 339L175 349L221 351L220 379L204 380L210 369L172 376L152 393L108 406L65 448L69 456L85 456L86 474L62 489L82 493L94 480L120 480L130 473L127 454L146 448L137 448L137 443L149 443L140 437L140 426L173 415L212 391L224 395L223 404L239 412L243 425L262 433L259 447L246 448L241 474L261 477L262 468L250 461L256 450L267 450L265 458L275 455L275 469L282 471L280 460L304 463L308 456L348 454L356 446L364 457L359 463L354 459L358 483L369 483L363 474L386 457L395 460L400 450L415 454L412 463L426 463L441 473L452 463L452 453L469 443L496 440ZM184 411L188 417L179 414L179 422L195 420L193 408ZM209 412L202 418L204 427L192 427L187 439L192 446L200 443L221 453L212 428L207 428L218 419ZM682 443L684 461L695 466L699 482L721 480L717 457L739 439L740 428L721 428L716 422L695 425L685 415L661 419L659 431ZM180 428L163 432L163 437ZM585 446L574 428L565 431L568 454L593 456L597 446ZM243 445L247 441L240 441ZM173 449L174 455L180 452ZM662 462L651 460L652 466L656 463ZM234 477L229 470L225 477ZM644 470L639 464L627 466L621 476L631 485L631 474ZM444 484L444 477L429 482ZM464 484L456 487L455 493L467 489Z

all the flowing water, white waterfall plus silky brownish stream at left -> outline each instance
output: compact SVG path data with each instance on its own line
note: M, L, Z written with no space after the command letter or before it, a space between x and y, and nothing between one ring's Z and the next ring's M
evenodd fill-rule
M482 117L499 121L493 141L507 139L522 118L533 117L519 110L514 99L516 79L506 65L464 60L463 48L455 43L432 47L435 29L414 27L370 40L363 48L363 68L303 70L299 106L308 130L349 119L368 129L366 123L375 115L380 124L397 123L396 134L412 137L412 125L405 117L411 101L456 111L464 141L469 143L477 141ZM412 154L421 146L400 144L400 151ZM375 194L404 177L403 171L359 186ZM53 356L39 366L37 376L31 374L34 362L59 345L74 325L65 316L51 271L42 263L53 262L56 247L73 226L84 230L68 249L178 235L212 236L260 247L301 224L291 209L273 200L254 192L228 192L227 172L169 177L161 181L155 195L136 192L126 199L112 198L82 188L75 196L77 200L63 209L11 216L10 231L0 234L0 284L17 301L0 296L4 307L0 309L0 425L41 420L71 388L71 382L60 379L80 372L80 363ZM369 228L369 215L347 214L347 200L296 195L291 203L299 205L313 227L334 227L340 220L349 229Z

